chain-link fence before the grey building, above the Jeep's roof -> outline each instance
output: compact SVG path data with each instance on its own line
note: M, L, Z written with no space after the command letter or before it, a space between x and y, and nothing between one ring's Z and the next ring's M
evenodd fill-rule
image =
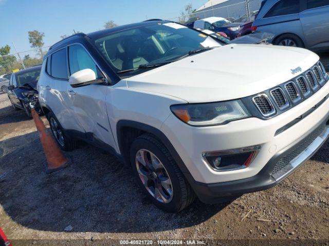
M254 19L254 15L258 13L258 10L261 6L261 0L246 0L227 6L222 5L223 4L210 6L191 14L169 18L169 20L179 22L181 24L188 24L197 19L215 16L226 18L231 22L244 23Z

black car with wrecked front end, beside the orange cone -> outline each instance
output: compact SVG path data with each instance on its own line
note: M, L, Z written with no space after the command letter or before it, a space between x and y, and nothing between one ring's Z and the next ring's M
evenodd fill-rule
M14 110L25 110L28 117L32 117L30 103L38 99L37 84L41 66L31 67L13 73L9 80L8 97ZM35 108L40 112L40 107Z

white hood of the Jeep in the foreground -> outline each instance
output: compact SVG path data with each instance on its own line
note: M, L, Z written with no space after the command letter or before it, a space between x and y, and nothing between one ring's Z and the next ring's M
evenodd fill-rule
M226 45L126 79L132 89L205 103L242 98L288 81L319 60L313 52L271 45ZM291 69L302 72L293 74Z

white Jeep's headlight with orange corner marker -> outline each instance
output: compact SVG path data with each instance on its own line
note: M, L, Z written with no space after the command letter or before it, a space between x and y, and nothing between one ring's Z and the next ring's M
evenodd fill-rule
M191 126L224 125L250 117L241 100L207 104L182 104L170 107L174 115Z

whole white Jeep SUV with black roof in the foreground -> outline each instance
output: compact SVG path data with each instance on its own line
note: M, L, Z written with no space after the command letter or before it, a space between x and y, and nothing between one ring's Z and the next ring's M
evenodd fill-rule
M114 153L156 206L177 212L298 169L329 135L328 80L305 49L225 45L150 21L51 46L39 101L63 150L83 139Z

